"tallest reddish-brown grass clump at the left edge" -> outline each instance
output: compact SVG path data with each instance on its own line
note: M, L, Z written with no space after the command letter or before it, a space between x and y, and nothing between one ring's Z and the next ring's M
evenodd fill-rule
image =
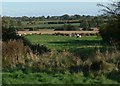
M2 62L3 71L14 69L17 64L25 64L27 47L24 46L23 40L10 40L2 43Z

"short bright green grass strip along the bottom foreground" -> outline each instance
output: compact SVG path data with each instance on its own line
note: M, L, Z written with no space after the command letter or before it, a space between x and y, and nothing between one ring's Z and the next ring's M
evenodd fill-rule
M3 73L3 84L118 84L104 76L84 77L82 73Z

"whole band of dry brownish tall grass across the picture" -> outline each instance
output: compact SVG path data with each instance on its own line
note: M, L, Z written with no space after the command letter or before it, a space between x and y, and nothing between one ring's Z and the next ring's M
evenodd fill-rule
M83 60L81 56L68 51L52 50L48 53L34 53L28 46L25 46L23 40L11 40L3 42L3 70L14 69L19 66L23 70L32 68L32 71L59 71L69 70L71 68L79 71L102 71L111 72L120 70L120 51L114 49L101 52L96 51L94 57L88 57ZM27 67L27 69L26 69Z

